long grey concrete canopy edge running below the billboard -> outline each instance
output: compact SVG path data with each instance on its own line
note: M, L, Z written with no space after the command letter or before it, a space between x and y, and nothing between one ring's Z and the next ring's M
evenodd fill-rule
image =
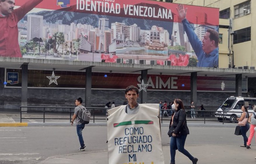
M92 67L92 72L109 72L141 74L142 70L148 70L148 74L184 75L190 76L191 72L197 72L197 76L225 76L234 77L243 74L243 77L256 77L256 70L233 68L206 68L206 67L180 67L167 65L140 65L123 63L105 63L70 60L45 60L34 58L8 58L0 57L0 67L20 69L22 64L28 65L28 69L56 71L83 71L86 67Z

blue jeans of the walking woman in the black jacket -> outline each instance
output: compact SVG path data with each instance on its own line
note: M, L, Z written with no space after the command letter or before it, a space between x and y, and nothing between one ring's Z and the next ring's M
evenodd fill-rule
M194 157L191 154L189 154L189 152L186 149L184 149L186 138L187 138L187 134L181 135L179 138L173 137L173 136L171 137L171 141L170 141L171 163L175 163L175 154L177 149L182 154L187 156L191 161L194 159Z

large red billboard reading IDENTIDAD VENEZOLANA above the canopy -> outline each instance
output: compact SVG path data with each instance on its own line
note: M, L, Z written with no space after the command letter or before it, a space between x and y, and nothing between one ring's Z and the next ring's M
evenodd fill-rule
M0 15L5 18L0 19L0 56L219 65L217 8L147 0L22 0L15 5L21 7Z

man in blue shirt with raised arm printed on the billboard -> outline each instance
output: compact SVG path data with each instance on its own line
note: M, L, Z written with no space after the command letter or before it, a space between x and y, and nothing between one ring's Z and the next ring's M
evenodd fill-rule
M199 40L194 29L190 26L186 19L187 8L184 9L182 4L178 4L176 8L178 15L182 20L182 24L189 38L189 42L193 47L198 63L197 67L218 67L219 65L219 33L214 29L208 29L203 37Z

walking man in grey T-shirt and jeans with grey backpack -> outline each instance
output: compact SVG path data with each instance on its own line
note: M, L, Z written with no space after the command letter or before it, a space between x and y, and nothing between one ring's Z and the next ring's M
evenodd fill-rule
M74 120L76 120L76 133L78 135L78 139L80 142L80 149L78 149L79 151L84 151L85 150L84 148L86 147L83 142L83 136L82 136L82 130L85 126L85 123L83 123L83 121L80 120L82 118L82 110L85 109L85 107L82 106L82 102L83 102L83 100L81 97L76 99L76 102L75 102L76 108L75 108L75 112L74 112L74 115L71 120L71 125L73 125Z

